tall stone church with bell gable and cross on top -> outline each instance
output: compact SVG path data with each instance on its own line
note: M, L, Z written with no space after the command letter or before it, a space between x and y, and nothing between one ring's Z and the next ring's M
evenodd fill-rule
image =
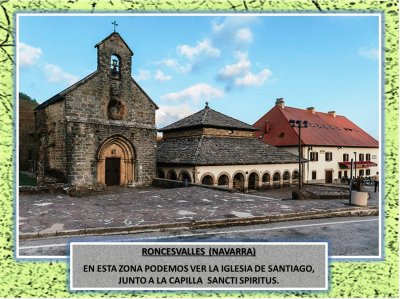
M150 184L156 174L157 105L131 76L133 52L114 32L97 70L35 109L38 184Z

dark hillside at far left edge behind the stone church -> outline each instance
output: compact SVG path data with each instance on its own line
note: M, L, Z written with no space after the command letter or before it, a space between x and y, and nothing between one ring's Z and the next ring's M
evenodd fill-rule
M39 105L35 99L22 92L18 95L19 105L19 169L32 170L36 160L35 114L33 110Z

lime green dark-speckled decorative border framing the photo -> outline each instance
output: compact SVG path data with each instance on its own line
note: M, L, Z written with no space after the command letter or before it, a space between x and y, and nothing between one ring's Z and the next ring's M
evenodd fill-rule
M398 298L398 3L393 1L0 1L0 297L307 297ZM20 262L14 257L14 38L17 12L379 12L384 20L384 260L332 262L327 292L68 291L67 263ZM367 116L366 116L367 117Z

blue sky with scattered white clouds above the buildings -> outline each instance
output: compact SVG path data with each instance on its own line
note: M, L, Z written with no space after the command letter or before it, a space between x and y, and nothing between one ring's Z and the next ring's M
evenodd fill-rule
M113 21L158 128L206 101L253 124L284 98L379 137L377 15L19 15L18 91L41 103L94 72Z

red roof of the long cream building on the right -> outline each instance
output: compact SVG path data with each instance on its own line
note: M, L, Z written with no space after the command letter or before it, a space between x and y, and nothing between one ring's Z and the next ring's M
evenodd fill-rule
M309 123L308 128L301 129L303 145L379 147L376 139L344 116L279 105L254 123L261 130L256 136L263 136L261 140L273 146L298 145L298 129L290 126L290 119Z

